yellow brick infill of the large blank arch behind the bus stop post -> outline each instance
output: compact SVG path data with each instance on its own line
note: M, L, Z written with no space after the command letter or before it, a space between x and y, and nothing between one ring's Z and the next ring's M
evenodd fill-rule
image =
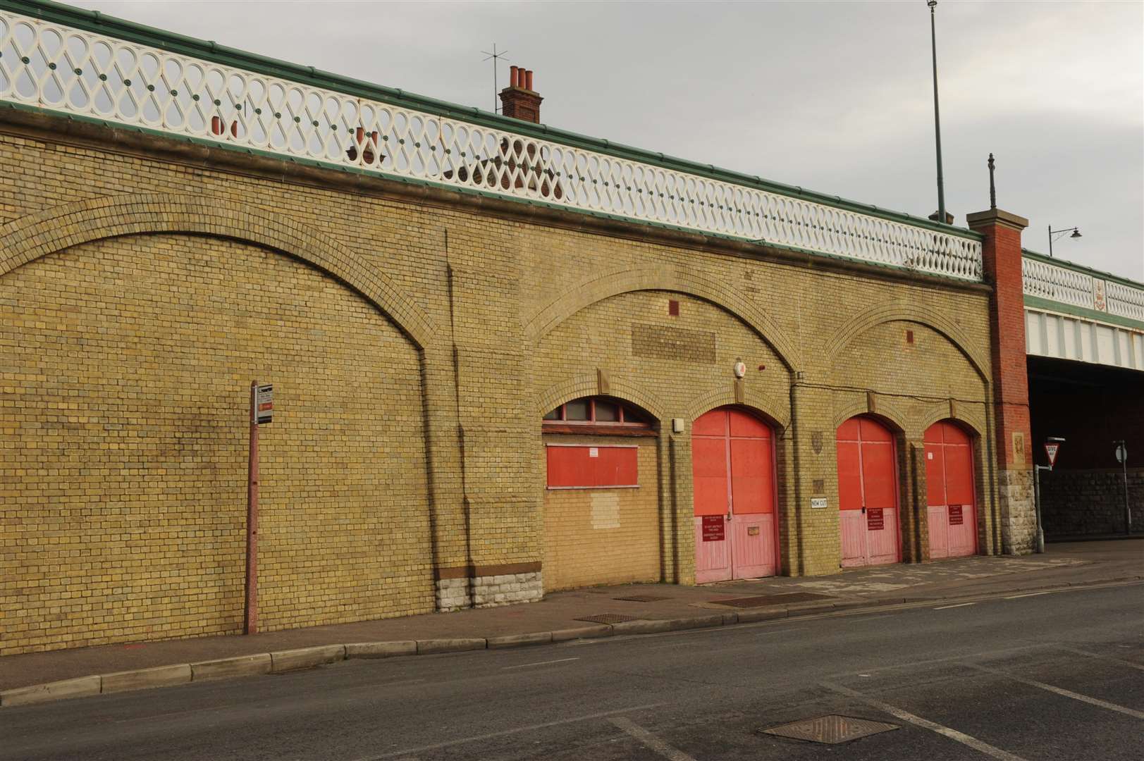
M169 235L0 283L0 652L241 631L254 378L262 628L432 609L418 357L376 309Z

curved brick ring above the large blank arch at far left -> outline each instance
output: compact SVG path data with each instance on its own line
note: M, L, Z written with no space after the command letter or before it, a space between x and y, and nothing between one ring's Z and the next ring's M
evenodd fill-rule
M270 211L220 198L109 196L23 216L0 225L0 277L41 256L93 240L170 232L231 238L308 262L381 310L418 349L432 342L435 327L429 316L402 295L383 272L362 267L328 235Z

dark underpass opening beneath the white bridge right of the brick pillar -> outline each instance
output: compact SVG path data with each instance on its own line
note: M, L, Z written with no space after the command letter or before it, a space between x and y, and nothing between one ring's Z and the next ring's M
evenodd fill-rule
M1067 359L1028 357L1033 461L1048 465L1044 441L1065 442L1051 473L1041 471L1047 540L1144 533L1144 373ZM1128 449L1127 469L1115 444Z

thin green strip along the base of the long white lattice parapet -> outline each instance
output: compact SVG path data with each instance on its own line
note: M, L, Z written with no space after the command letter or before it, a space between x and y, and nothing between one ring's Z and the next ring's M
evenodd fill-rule
M26 105L24 103L8 103L0 101L0 109L13 109L15 111L29 111L32 113L49 113L53 117L69 119L71 121L82 121L86 124L94 124L101 127L106 127L109 129L119 129L122 132L133 132L142 135L152 135L156 137L162 137L166 140L174 140L183 143L191 143L193 145L202 145L205 148L232 151L235 153L245 153L247 156L261 156L263 158L273 159L276 161L285 161L288 164L299 164L302 166L312 166L321 169L328 169L331 172L343 172L347 174L360 174L370 177L380 177L382 180L389 180L390 182L400 182L408 185L426 185L429 188L438 188L442 190L448 190L462 196L480 196L483 198L493 198L496 200L508 201L510 204L522 204L524 206L543 206L546 208L557 209L561 212L569 212L572 214L586 214L588 216L594 216L602 220L612 220L615 222L625 222L627 224L645 225L650 228L658 228L661 230L674 230L677 232L686 232L690 235L704 236L707 238L718 238L721 240L733 240L736 243L757 243L755 239L739 236L723 235L718 232L706 232L704 230L698 230L696 228L685 228L677 224L667 224L665 222L651 222L648 220L638 220L630 216L620 216L617 214L605 214L603 212L593 212L590 209L581 209L574 206L565 206L563 204L551 204L549 201L535 200L531 198L514 198L513 196L503 196L501 193L494 193L487 190L478 190L476 188L459 188L453 184L444 182L435 182L432 180L420 180L413 177L403 177L400 175L388 174L386 172L380 172L378 169L362 169L359 167L344 166L342 164L332 164L329 161L319 161L317 159L303 159L292 156L283 156L281 153L275 153L273 151L263 151L256 148L241 148L239 145L231 145L229 143L215 142L213 140L206 140L202 137L191 137L189 135L178 135L175 133L162 132L160 129L152 129L150 127L135 127L128 125L121 125L118 121L108 121L106 119L98 119L96 117L87 117L82 114L67 113L66 111L54 111L51 109L43 109L34 105ZM924 277L934 277L942 280L947 280L950 283L960 283L967 285L980 286L980 280L971 280L969 278L952 277L950 275L940 275L938 272L927 272L923 270L909 269L908 267L900 267L898 264L885 264L883 262L874 262L865 259L858 259L857 256L844 256L842 254L827 254L821 251L812 251L810 248L800 248L799 246L788 246L777 243L762 241L757 243L760 246L766 248L778 248L781 251L789 251L799 254L807 254L810 256L821 256L824 259L833 259L840 262L855 262L859 264L865 264L867 267L876 267L887 270L893 270L896 272L908 272L911 275L922 275Z

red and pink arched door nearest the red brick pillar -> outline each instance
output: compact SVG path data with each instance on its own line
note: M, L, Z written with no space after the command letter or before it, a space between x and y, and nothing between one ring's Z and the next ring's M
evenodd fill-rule
M975 554L974 449L969 435L948 420L925 430L925 493L930 557Z

